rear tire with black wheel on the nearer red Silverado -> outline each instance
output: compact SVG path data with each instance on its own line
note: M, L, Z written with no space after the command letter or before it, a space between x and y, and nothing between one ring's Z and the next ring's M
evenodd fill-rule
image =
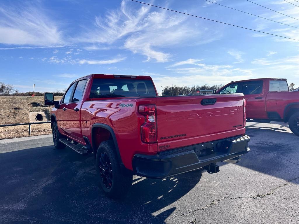
M107 197L114 200L126 196L132 185L133 175L123 175L120 170L112 140L102 142L96 154L97 176Z

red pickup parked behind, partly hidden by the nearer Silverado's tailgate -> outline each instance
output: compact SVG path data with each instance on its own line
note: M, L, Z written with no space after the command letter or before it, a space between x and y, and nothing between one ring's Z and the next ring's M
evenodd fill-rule
M299 136L299 92L289 91L286 79L248 79L231 82L216 93L243 93L246 99L246 121L289 122Z

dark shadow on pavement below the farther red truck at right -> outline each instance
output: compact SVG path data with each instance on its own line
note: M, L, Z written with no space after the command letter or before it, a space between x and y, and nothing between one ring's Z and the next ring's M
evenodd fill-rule
M246 134L251 151L237 165L285 180L299 176L298 136L269 127L246 127Z

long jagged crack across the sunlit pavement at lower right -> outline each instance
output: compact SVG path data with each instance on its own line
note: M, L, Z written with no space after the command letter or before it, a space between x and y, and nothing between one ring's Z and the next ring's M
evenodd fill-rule
M219 198L219 199L215 199L215 200L213 200L210 204L205 205L204 207L196 208L196 209L194 209L193 211L189 211L189 212L187 212L187 213L182 213L182 214L180 214L180 215L176 215L176 216L173 216L173 217L169 217L167 220L169 220L169 219L174 219L174 218L176 218L176 217L181 217L181 216L184 216L184 215L189 215L189 214L192 214L193 217L195 218L195 215L193 214L193 212L196 212L196 211L199 211L199 210L203 210L203 211L205 211L205 210L207 210L208 208L210 208L210 207L212 207L212 206L218 204L220 201L225 200L225 199L236 200L236 199L240 199L240 198L252 198L252 199L256 199L256 200L257 200L257 199L259 199L259 198L264 198L264 197L267 197L268 195L272 195L272 194L274 194L274 192L275 192L277 189L280 189L280 188L282 188L282 187L284 187L284 186L290 184L291 181L296 180L296 179L299 179L299 177L296 177L296 178L294 178L294 179L290 179L290 180L288 180L285 184L280 185L280 186L278 186L278 187L276 187L276 188L271 189L271 190L268 191L266 194L256 194L256 195L242 196L242 197L222 197L222 198ZM296 203L297 203L297 202L296 202Z

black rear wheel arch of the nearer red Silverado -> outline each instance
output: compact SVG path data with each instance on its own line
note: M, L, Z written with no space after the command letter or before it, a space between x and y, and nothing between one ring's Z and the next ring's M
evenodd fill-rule
M100 145L100 143L105 141L105 140L108 140L108 139L105 139L101 142L96 141L96 134L97 134L98 128L101 128L101 129L105 130L106 132L109 132L109 134L110 134L109 139L111 138L114 142L118 162L119 162L120 165L123 165L123 162L122 162L121 157L120 157L120 152L119 152L118 143L117 143L117 140L116 140L115 133L109 125L106 125L106 124L103 124L103 123L95 123L95 124L92 125L92 127L91 127L91 144L92 144L92 148L94 150L94 154L96 154L97 148Z

